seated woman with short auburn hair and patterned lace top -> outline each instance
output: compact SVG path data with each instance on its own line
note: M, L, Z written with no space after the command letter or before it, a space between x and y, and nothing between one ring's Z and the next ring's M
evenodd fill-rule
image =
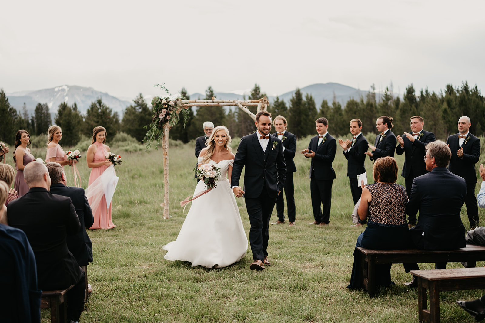
M375 183L362 189L358 208L361 221L369 218L367 228L357 238L354 250L354 267L347 288L362 286L362 260L357 247L374 250L407 249L411 245L406 222L406 189L396 184L397 162L392 157L378 158L374 162L372 175ZM375 277L381 286L394 285L390 277L391 264L376 264Z

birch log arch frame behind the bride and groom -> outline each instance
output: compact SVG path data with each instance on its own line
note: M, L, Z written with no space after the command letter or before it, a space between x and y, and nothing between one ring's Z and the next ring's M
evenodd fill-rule
M154 99L155 100L155 99ZM269 101L266 97L263 97L259 100L217 100L212 97L211 100L178 100L176 104L175 113L178 115L182 109L192 108L193 106L238 106L242 111L247 113L253 120L256 121L256 115L252 113L247 107L248 106L257 106L258 110L260 111L267 111L269 107ZM169 215L169 186L170 181L168 177L168 133L172 125L168 122L163 126L163 133L162 133L162 151L163 151L163 186L164 186L164 193L163 193L163 203L160 206L163 206L163 219L168 219Z

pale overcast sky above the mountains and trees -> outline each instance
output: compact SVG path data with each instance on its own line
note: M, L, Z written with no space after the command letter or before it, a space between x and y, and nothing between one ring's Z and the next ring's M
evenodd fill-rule
M3 1L0 87L485 89L485 1Z

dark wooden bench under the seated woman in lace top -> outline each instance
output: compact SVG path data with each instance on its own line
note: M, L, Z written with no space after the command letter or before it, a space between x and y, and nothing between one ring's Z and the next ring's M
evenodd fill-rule
M362 253L362 285L371 297L375 295L375 264L485 261L485 246L478 245L467 245L466 248L449 251L371 250L362 247L358 247L357 250Z

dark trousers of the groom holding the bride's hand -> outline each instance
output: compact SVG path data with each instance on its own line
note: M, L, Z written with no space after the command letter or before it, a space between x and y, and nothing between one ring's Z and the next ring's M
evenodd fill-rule
M249 244L253 252L253 259L263 261L264 257L268 255L266 249L268 248L269 240L269 224L271 213L275 207L276 197L270 198L266 187L263 187L258 198L245 198L246 210L249 216Z

